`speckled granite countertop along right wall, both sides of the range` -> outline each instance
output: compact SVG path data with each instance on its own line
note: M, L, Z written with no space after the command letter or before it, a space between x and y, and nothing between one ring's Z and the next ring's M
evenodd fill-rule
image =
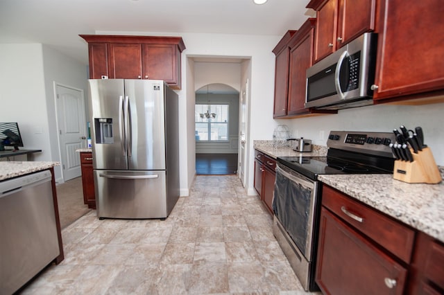
M325 154L291 152L291 148L267 147L266 141L255 141L254 148L270 157L316 156ZM322 150L322 149L321 149ZM287 154L285 154L287 153ZM441 174L443 170L441 168ZM444 182L440 184L407 184L393 175L319 175L324 184L358 199L404 224L408 224L444 242Z

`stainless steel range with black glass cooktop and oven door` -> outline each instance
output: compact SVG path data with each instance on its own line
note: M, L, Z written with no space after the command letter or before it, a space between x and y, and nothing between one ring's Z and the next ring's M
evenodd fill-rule
M318 175L391 174L391 132L332 131L327 157L278 157L273 233L307 291L314 281L322 186Z

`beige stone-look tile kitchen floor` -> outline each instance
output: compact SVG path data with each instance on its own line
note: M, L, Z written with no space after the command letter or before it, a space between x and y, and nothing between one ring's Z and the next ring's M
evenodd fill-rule
M65 260L22 294L305 294L271 215L236 175L198 176L167 220L98 220L62 231Z

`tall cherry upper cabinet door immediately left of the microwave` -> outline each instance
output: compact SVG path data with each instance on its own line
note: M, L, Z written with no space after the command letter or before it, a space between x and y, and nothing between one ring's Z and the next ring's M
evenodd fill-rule
M305 71L312 65L313 30L290 51L289 100L287 114L309 113L305 109L307 78Z

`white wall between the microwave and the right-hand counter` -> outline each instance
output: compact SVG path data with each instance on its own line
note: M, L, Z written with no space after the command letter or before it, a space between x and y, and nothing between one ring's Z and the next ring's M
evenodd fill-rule
M443 112L443 103L418 106L372 105L343 109L339 114L276 122L288 125L294 137L311 139L317 145L326 145L330 130L392 132L395 128L399 129L400 125L408 129L421 126L425 133L425 143L432 149L436 163L444 166ZM324 131L323 138L320 137L321 131ZM260 139L270 138L264 136Z

